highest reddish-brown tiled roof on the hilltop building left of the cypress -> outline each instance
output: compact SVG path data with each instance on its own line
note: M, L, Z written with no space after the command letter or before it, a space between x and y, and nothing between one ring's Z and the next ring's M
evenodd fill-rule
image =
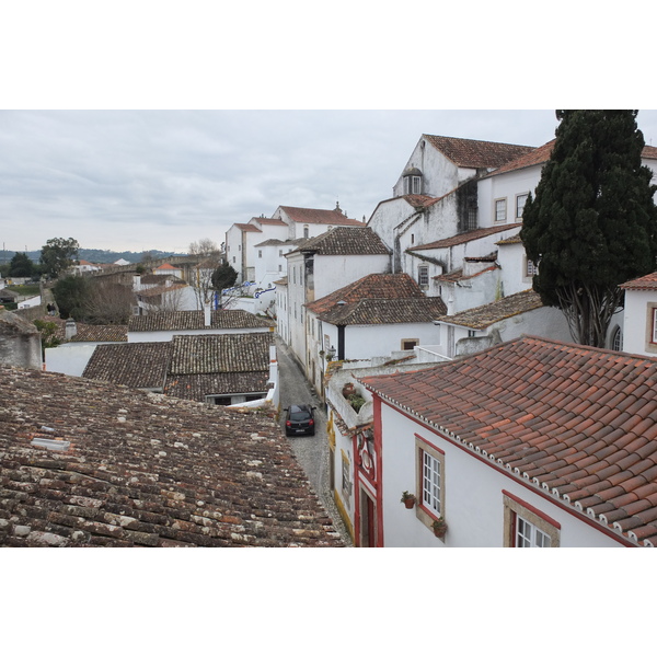
M423 135L423 138L457 166L466 169L497 169L506 162L534 150L532 146L440 137L437 135Z

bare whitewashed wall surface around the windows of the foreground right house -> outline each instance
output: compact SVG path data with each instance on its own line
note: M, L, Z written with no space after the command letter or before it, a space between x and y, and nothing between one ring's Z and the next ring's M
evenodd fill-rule
M460 447L437 437L420 424L383 404L382 495L384 545L387 548L502 548L504 545L503 491L508 491L561 523L562 548L613 548L620 543L557 504L526 487L508 471L480 461ZM400 499L404 491L416 489L415 434L445 452L445 542L406 509Z

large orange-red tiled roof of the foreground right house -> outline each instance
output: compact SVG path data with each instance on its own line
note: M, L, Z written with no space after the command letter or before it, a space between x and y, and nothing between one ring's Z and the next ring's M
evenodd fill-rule
M527 336L362 382L575 515L657 545L657 359Z

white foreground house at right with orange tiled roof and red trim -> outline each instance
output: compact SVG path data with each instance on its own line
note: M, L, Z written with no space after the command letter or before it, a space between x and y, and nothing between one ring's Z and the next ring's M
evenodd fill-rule
M361 379L357 544L656 545L655 381L656 359L530 336Z

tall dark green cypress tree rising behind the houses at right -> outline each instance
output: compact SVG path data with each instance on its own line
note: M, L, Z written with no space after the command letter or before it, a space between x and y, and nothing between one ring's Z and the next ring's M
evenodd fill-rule
M533 289L560 308L573 339L604 347L619 285L654 272L657 207L635 110L560 110L556 139L525 205L520 237Z

